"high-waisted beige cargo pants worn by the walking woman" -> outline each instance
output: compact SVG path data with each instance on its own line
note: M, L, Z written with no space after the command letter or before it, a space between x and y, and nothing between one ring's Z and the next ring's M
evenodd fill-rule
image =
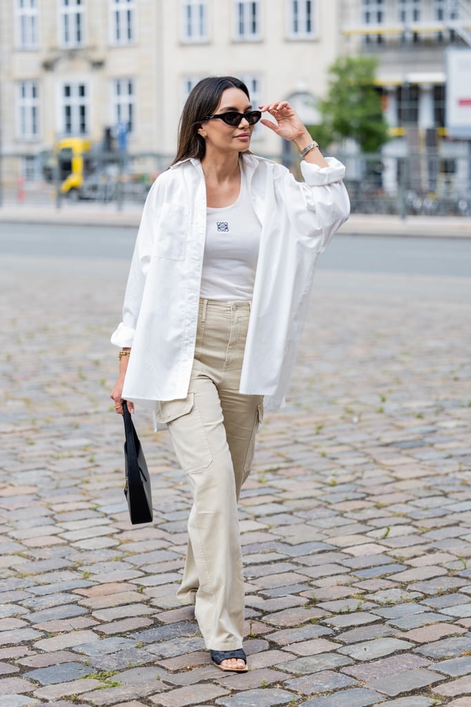
M201 300L185 399L162 402L193 496L188 550L178 597L195 603L206 648L242 648L244 576L237 501L254 457L261 395L241 395L249 302Z

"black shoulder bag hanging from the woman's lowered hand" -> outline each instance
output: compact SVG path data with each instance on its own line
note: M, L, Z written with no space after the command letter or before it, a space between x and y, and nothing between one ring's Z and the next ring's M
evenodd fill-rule
M128 501L129 518L131 518L133 525L150 523L153 519L150 474L126 400L123 400L123 419L124 469L126 471L124 496Z

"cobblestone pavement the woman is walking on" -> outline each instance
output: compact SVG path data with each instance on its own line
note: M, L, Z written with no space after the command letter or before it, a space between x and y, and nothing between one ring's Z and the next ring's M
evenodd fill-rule
M242 496L233 675L175 599L189 491L141 412L129 524L104 264L1 260L0 707L470 707L471 279L316 276Z

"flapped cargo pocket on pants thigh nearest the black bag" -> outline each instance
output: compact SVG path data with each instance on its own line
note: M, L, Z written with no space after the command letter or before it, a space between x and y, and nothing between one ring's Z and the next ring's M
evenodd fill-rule
M193 392L180 400L161 402L157 421L167 424L175 454L186 474L205 469L213 461Z

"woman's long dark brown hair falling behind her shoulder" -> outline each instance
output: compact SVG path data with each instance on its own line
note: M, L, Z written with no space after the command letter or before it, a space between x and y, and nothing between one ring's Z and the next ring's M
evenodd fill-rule
M189 157L201 160L205 156L205 141L198 134L198 128L201 127L201 119L205 115L215 112L226 88L240 88L250 100L249 89L243 81L234 76L208 76L192 88L181 112L177 156L172 162L173 165Z

